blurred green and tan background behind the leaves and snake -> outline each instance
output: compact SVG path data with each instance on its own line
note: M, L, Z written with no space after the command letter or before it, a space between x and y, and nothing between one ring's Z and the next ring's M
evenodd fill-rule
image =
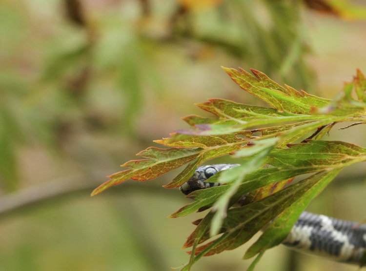
M193 103L262 104L220 66L254 68L333 97L366 72L365 2L346 0L2 0L0 2L0 271L162 271L193 216L146 183L91 191L119 165L205 115ZM366 146L362 126L329 139ZM224 157L212 162L229 161ZM361 221L365 168L346 169L308 210ZM245 248L193 270L239 271ZM277 247L256 270L355 270Z

